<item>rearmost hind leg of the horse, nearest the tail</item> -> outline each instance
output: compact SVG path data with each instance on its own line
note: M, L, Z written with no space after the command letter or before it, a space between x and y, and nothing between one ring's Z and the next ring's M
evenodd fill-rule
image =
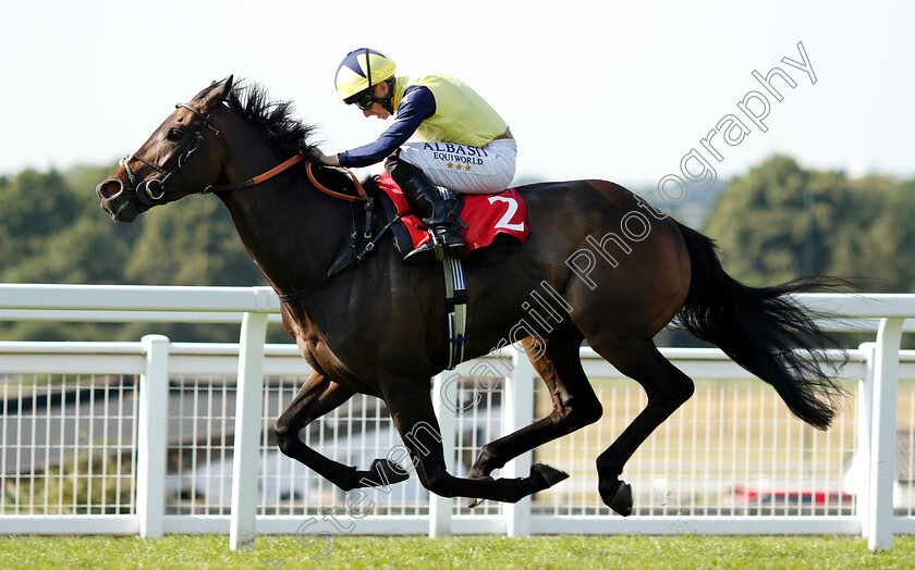
M620 479L623 467L651 432L690 399L694 385L690 376L661 356L650 339L591 346L620 372L638 382L648 396L645 409L597 458L600 498L626 517L632 513L633 500L632 487Z

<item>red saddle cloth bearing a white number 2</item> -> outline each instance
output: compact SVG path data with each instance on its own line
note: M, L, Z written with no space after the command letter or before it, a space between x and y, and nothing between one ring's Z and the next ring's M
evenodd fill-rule
M398 215L410 211L403 191L390 175L383 174L377 182L378 187L394 202ZM474 249L488 246L498 234L508 234L522 243L527 239L530 232L527 227L527 209L514 188L499 194L465 194L463 198L464 209L461 210L460 218L467 224L467 228L461 224L457 224L457 228L464 235L467 251L462 257L467 257ZM413 239L414 248L431 239L429 233L422 230L425 224L412 213L405 215L403 222Z

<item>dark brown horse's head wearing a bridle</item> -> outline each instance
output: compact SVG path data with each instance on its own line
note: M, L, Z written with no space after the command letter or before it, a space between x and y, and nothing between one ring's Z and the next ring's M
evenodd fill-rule
M133 222L142 212L206 193L223 174L224 146L213 114L232 89L232 76L213 82L187 103L179 103L139 149L96 187L101 208L119 222ZM194 168L185 169L193 160Z

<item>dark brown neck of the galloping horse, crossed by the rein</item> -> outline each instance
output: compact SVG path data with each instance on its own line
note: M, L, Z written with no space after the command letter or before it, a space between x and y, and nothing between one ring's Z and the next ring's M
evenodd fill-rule
M289 158L278 157L241 117L232 124L224 135L227 183L251 179ZM324 280L349 244L349 205L322 195L298 168L219 198L254 262L283 294Z

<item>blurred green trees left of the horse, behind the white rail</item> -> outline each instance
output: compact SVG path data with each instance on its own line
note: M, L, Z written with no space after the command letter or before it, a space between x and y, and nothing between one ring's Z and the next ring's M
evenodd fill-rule
M150 285L263 285L228 211L215 197L156 208L133 224L99 208L95 186L114 170L78 166L0 177L0 281ZM169 323L0 323L0 339L237 339L237 325ZM273 332L271 338L288 339Z

